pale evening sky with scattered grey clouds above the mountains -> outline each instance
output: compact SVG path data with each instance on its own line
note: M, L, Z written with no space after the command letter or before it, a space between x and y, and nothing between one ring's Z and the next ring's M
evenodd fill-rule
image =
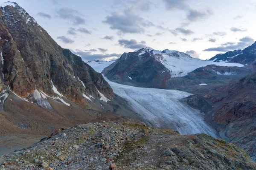
M0 3L6 0L0 0ZM16 0L63 48L112 60L143 47L209 59L256 40L255 0Z

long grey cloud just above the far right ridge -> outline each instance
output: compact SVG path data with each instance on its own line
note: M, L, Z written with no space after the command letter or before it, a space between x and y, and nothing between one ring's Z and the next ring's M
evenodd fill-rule
M253 42L254 40L251 37L247 36L239 39L239 42L227 42L227 43L221 44L221 46L208 48L203 51L227 52L227 51L239 50L239 49L244 49L249 45L252 45Z

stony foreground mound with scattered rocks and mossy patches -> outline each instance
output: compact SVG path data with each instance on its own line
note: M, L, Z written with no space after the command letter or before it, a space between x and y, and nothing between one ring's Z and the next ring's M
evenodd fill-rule
M3 170L256 169L256 162L234 144L131 122L57 130L31 147L1 156L0 164Z

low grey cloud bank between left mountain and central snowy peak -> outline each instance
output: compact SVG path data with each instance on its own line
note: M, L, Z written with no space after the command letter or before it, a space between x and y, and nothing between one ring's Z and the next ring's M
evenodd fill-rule
M84 51L73 51L74 54L80 56L85 62L90 60L106 60L110 61L113 59L118 59L122 54L91 54L91 52L84 52Z

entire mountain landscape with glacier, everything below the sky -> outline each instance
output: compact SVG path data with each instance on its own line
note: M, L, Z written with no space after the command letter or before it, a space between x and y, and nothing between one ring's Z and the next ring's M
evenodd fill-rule
M134 155L122 147L131 145L133 150L134 145L145 150L143 143L151 141L154 142L147 146L154 145L161 152L162 144L170 147L164 155L147 151L156 158L163 156L167 161L159 160L157 166L165 169L202 169L204 165L213 169L250 169L255 165L248 156L256 159L256 43L209 60L147 47L124 53L115 61L85 63L61 48L17 3L0 6L0 18L0 151L5 154L13 147L27 147L47 135L30 149L0 156L1 168L49 168L52 163L51 168L65 164L59 167L63 169L71 162L94 160L78 153L75 160L64 155L59 158L62 153L68 156L75 151L101 156L109 151L110 155L96 162L102 164L104 160L105 165L111 166L121 153L127 153L124 160L129 154ZM87 122L104 123L84 124ZM182 136L195 133L232 142L249 155L205 134ZM175 143L166 144L166 139L159 145L158 140L168 134L172 135L168 140ZM182 146L178 146L180 142ZM61 150L65 148L61 145L69 146L69 150ZM50 148L52 153L44 151L44 156L34 155L31 159L30 150L38 146ZM88 152L80 150L85 146ZM9 159L17 154L18 161ZM53 157L62 162L48 159Z

